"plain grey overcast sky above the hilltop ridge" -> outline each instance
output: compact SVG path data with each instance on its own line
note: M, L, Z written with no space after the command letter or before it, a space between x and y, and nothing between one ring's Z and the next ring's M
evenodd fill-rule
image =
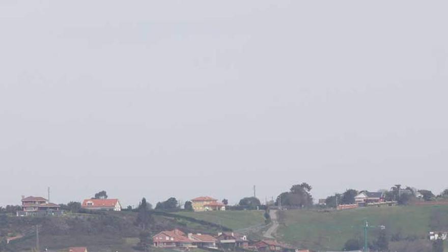
M0 1L0 205L448 187L446 1Z

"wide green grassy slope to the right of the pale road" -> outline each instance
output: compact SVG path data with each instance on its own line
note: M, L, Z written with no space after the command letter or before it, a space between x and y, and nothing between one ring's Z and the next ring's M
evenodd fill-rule
M341 249L350 238L362 237L363 220L371 225L386 226L387 233L400 232L403 237L417 236L425 239L431 229L432 216L443 213L448 222L448 206L408 206L363 208L338 212L291 210L282 213L282 223L277 234L286 242L312 249ZM372 229L372 237L378 229Z

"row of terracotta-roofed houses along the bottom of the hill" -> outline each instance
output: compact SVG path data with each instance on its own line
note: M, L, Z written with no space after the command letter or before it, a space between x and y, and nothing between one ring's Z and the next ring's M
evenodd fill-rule
M152 237L153 245L160 248L207 248L207 249L229 249L242 248L259 252L308 252L308 250L295 249L286 244L278 243L275 240L250 241L247 236L222 232L216 236L208 234L186 234L179 229L162 231Z

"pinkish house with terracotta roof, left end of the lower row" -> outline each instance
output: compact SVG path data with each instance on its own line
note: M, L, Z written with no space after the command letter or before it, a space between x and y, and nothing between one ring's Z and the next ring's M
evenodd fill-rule
M193 240L189 239L184 232L179 229L172 231L162 231L152 237L153 245L161 248L195 248Z

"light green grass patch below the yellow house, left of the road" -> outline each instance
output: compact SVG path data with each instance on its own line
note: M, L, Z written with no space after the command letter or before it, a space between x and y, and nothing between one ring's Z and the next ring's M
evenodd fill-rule
M264 211L179 212L177 214L206 220L233 230L244 229L264 223Z

